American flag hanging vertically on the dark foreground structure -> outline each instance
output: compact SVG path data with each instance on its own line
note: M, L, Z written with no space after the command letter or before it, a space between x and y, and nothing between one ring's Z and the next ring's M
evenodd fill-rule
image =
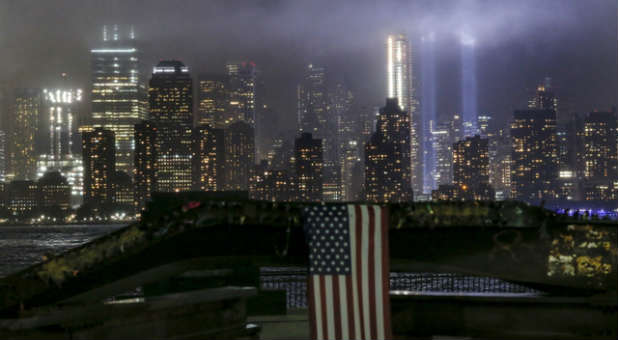
M303 211L313 339L391 338L388 211L321 205Z

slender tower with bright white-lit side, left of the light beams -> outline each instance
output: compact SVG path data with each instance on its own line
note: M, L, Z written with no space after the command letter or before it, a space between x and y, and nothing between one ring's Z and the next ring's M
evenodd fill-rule
M418 101L408 38L404 34L389 35L386 52L387 97L397 98L399 108L408 114L411 185L415 192L421 193L423 191L422 124L417 113Z

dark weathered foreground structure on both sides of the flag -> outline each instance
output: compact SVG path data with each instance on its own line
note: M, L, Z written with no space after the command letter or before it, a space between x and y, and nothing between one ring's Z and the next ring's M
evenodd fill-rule
M303 327L285 317L285 296L259 285L260 267L307 265L303 206L158 195L140 222L0 280L0 338L259 338L284 319ZM393 291L396 337L618 335L615 221L518 202L388 208L391 271L500 278L542 292ZM138 287L139 298L126 297ZM248 326L252 315L269 321Z

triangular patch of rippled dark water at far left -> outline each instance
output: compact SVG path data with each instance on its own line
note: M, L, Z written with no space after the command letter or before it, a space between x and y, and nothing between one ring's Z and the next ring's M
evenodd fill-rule
M124 225L0 226L0 277L103 236Z

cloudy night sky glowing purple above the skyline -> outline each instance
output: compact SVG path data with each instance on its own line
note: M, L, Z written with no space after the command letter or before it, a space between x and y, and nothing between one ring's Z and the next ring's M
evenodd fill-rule
M435 33L442 116L461 110L462 32L476 40L481 113L506 121L545 76L575 112L616 104L616 0L334 2L0 0L0 89L53 86L60 72L88 89L89 49L103 24L117 23L134 25L149 70L179 59L197 78L227 60L255 61L290 130L310 62L343 79L359 104L383 105L389 32L407 33L413 49Z

